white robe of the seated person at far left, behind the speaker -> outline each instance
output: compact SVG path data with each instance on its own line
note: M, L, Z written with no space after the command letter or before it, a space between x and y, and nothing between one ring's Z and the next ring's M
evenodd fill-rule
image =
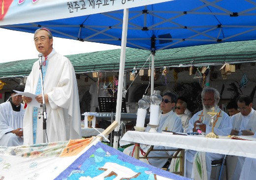
M19 112L13 111L10 102L0 104L0 146L23 145L23 139L10 131L23 127L24 113L23 104Z

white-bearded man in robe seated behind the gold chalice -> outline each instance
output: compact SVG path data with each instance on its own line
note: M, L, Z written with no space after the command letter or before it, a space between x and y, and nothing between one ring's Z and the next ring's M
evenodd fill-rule
M205 134L210 133L212 131L211 116L207 113L212 111L212 108L214 107L215 112L218 113L214 117L214 132L217 135L229 135L232 129L232 123L229 119L229 116L218 106L220 100L219 91L214 88L207 87L202 90L201 97L203 110L197 112L191 118L191 120L189 121L188 132L197 132L197 129L200 129ZM208 178L208 180L210 180L210 175L212 171L212 160L221 159L223 158L223 156L223 154L187 150L185 176L191 179L198 179L198 177L202 175L205 179ZM199 161L201 161L200 164L196 163L198 158ZM199 168L202 169L201 172L198 172L198 168L196 168L196 165L201 166L201 168Z

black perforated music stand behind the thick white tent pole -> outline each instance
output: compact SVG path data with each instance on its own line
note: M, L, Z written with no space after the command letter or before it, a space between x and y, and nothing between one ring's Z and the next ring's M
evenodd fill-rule
M111 124L113 122L113 113L116 113L117 97L98 97L98 109L100 113L111 113ZM121 113L127 113L126 99L122 97ZM112 135L110 133L110 146L112 147Z

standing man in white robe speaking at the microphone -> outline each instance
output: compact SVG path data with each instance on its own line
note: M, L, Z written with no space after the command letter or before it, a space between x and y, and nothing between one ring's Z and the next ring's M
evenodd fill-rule
M53 36L50 30L40 28L34 32L34 43L41 60L34 62L27 78L25 92L36 94L36 100L43 103L41 90L40 61L44 101L46 105L46 143L81 138L81 118L79 97L74 68L71 62L53 49ZM27 103L23 135L24 145L43 143L43 116L38 112L42 107L30 105L30 97L22 97Z

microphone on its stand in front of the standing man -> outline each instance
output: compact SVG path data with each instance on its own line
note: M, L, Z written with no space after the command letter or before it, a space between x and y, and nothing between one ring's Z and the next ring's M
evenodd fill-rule
M38 55L39 57L39 69L40 69L40 78L41 78L41 89L42 89L42 97L43 97L43 104L40 104L40 107L43 107L43 112L38 112L38 115L43 115L43 143L46 143L46 105L44 101L44 89L43 89L43 71L42 71L42 54ZM40 119L41 117L39 117Z

